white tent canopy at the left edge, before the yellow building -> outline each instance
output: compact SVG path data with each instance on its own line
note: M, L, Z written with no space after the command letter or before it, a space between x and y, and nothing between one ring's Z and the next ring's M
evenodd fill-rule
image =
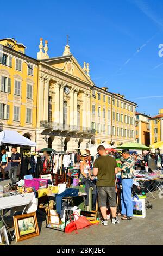
M30 139L27 139L17 131L10 130L0 132L0 145L2 145L2 143L36 147L35 142L30 141Z

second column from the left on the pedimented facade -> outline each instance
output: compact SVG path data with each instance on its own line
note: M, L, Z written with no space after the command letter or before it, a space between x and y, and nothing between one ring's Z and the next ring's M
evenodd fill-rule
M48 121L48 103L49 103L49 78L45 77L44 97L43 97L43 120Z

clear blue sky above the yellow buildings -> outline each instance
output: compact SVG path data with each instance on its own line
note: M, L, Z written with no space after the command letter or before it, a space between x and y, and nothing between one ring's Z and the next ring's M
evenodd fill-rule
M3 1L0 38L15 38L36 58L39 39L49 56L70 50L80 65L90 63L97 86L137 103L155 115L163 108L163 4L161 0ZM162 65L161 65L162 64Z

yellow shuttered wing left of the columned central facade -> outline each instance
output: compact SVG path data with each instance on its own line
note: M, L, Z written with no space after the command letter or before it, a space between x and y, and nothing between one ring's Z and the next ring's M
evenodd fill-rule
M38 69L25 49L15 39L0 40L0 123L35 141Z

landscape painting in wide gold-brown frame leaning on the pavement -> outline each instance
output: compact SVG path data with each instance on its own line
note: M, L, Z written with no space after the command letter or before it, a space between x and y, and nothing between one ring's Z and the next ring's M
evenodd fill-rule
M36 213L16 215L14 218L14 227L16 241L22 241L39 235Z

